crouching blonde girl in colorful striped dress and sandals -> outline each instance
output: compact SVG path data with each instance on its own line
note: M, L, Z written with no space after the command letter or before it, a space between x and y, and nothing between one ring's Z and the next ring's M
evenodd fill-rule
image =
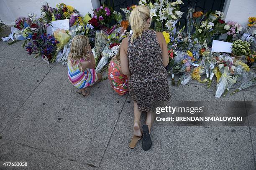
M68 57L68 78L69 81L81 91L77 93L87 97L87 87L102 79L100 73L96 73L95 59L92 53L89 39L84 35L77 35L73 38Z

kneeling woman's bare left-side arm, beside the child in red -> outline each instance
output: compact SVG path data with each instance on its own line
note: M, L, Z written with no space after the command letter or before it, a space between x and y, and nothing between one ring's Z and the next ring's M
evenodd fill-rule
M120 49L120 62L124 75L130 77L129 62L127 58L128 38L123 39Z

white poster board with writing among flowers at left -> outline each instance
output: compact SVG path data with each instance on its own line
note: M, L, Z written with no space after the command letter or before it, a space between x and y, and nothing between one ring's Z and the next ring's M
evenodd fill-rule
M52 21L49 24L51 25L46 28L47 34L53 34L57 29L69 30L69 19Z

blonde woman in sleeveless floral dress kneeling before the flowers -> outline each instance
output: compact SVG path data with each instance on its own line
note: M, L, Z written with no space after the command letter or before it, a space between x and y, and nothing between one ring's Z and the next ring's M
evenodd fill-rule
M161 32L149 30L150 13L145 5L137 6L130 14L132 35L123 39L120 62L128 77L129 92L133 99L133 137L129 148L135 148L142 138L143 150L151 148L150 130L154 120L151 106L154 101L170 99L167 82L168 51ZM146 124L140 128L141 112L147 114Z

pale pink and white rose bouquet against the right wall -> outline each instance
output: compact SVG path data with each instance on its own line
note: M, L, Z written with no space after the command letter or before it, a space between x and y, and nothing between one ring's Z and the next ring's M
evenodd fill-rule
M224 29L228 31L227 42L231 42L233 37L236 37L236 35L243 30L242 26L234 21L229 21L228 24L224 26Z

